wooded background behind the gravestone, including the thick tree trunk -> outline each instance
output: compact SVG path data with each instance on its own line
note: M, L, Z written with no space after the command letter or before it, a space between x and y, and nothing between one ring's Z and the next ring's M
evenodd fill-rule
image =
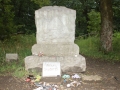
M120 0L0 0L0 40L36 32L35 10L43 6L76 10L76 34L100 36L101 50L112 50L114 32L120 31Z

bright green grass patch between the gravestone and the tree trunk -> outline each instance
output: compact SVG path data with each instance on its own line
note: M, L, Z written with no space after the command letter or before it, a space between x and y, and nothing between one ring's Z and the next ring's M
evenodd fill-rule
M79 37L79 39L75 40L75 43L80 47L80 53L95 57L99 49L99 39L94 37L88 37L84 39L84 37Z

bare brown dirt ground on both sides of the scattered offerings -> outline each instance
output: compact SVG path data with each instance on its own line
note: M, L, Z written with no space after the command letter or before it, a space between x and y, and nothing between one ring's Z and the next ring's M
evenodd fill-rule
M86 57L87 70L85 75L99 75L102 80L82 81L78 88L64 90L120 90L120 63L91 59ZM11 75L0 76L0 90L33 90L34 87L24 80Z

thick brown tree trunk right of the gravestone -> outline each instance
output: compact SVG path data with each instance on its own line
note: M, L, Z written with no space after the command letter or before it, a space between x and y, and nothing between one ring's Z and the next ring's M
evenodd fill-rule
M100 0L101 11L101 50L108 53L112 50L113 12L111 0Z

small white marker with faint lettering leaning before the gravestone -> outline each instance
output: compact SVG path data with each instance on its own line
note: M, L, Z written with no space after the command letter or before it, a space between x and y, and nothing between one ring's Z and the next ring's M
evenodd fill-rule
M43 77L61 76L60 62L43 62Z

